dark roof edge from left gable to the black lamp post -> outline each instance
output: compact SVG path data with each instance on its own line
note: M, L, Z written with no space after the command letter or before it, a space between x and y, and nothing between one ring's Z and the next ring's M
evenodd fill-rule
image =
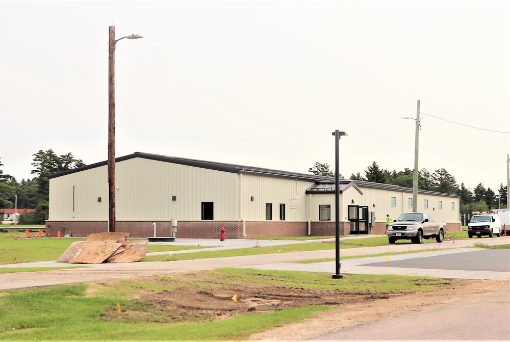
M317 176L317 175L308 174L308 173L296 173L296 172L281 171L281 170L274 170L274 169L264 169L264 168L253 167L253 166L208 162L208 161L201 161L201 160L196 160L196 159L173 157L173 156L159 155L159 154L150 154L150 153L143 153L143 152L135 152L133 154L124 155L122 157L115 158L115 162L118 163L118 162L130 160L133 158L150 159L150 160L155 160L155 161L160 161L160 162L194 166L194 167L198 167L198 168L202 168L202 169L210 169L210 170L232 172L232 173L264 174L266 176L298 178L298 179L304 179L304 180L310 180L310 181L334 180L334 178L331 178L331 177ZM105 165L108 165L108 161L99 162L99 163L95 163L95 164L91 164L91 165L86 165L86 166L83 166L83 167L77 168L77 169L71 169L71 170L66 170L63 172L55 173L53 175L50 175L48 178L60 177L63 175L80 172L80 171L84 171L84 170L89 170L89 169L93 169L93 168L96 168L99 166L105 166Z

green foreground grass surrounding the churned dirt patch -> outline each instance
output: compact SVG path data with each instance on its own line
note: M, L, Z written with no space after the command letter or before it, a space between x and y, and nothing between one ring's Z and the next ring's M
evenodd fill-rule
M150 280L150 281L149 281ZM165 284L171 284L172 286ZM178 291L175 283L203 288L211 284L235 288L236 284L299 286L319 290L371 294L432 291L444 279L406 276L346 275L342 280L330 274L311 272L219 269L170 277L116 280L94 285L57 285L3 291L0 296L0 340L242 340L273 327L300 322L332 306L282 309L269 313L245 311L222 320L203 320L187 315L173 323L171 312L161 312L142 293ZM97 288L97 286L99 286ZM183 294L184 296L186 294ZM230 301L230 299L228 299ZM117 303L122 308L117 312ZM334 306L333 306L334 307ZM143 308L142 311L140 311ZM143 312L143 314L134 314Z

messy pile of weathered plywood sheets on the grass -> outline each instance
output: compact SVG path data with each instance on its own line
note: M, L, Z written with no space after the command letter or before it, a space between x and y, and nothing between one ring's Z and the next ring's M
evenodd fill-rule
M87 236L86 241L73 242L57 262L102 264L103 262L135 262L145 257L148 240L127 241L129 233L107 232Z

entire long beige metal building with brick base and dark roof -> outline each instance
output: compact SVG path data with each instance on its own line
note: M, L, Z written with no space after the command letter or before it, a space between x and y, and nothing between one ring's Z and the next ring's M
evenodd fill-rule
M335 234L335 180L279 170L135 152L116 159L116 231L132 237L227 239ZM340 234L385 229L412 211L412 189L342 179ZM418 192L418 211L460 231L456 195ZM108 231L108 162L49 177L46 233ZM155 235L156 231L156 235Z

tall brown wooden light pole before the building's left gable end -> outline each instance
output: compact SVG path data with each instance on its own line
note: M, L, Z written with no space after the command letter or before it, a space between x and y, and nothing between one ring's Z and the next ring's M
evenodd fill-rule
M108 47L108 231L115 231L115 45L121 39L143 38L140 35L115 39L115 27L109 29Z

